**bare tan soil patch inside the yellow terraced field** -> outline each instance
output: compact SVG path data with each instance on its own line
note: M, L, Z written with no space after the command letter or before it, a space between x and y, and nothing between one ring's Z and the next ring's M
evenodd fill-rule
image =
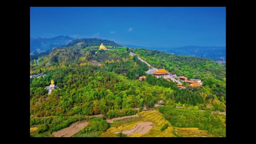
M130 130L122 131L122 133L126 135L140 133L143 135L143 134L146 134L148 131L150 131L151 128L153 128L153 126L151 126L152 124L153 124L152 122L142 122L140 124L137 124L137 126L135 126Z

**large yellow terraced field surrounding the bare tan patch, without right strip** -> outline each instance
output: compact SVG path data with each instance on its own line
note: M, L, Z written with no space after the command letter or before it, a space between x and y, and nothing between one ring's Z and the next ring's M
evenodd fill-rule
M119 132L127 134L128 137L173 137L174 129L164 116L158 111L143 111L138 114L140 119L118 122L102 133L102 137L114 137ZM169 127L163 132L160 131L164 124Z

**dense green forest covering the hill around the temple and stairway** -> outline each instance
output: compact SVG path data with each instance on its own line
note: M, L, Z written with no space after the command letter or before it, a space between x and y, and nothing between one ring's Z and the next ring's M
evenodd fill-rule
M40 126L36 136L48 136L53 131L67 127L78 121L78 115L90 121L75 136L90 136L92 130L102 132L108 128L104 120L90 116L104 114L107 118L114 118L133 115L142 111L144 105L148 109L154 108L159 100L168 106L184 109L205 112L226 110L224 66L204 58L119 47L112 41L105 44L97 39L86 40L89 41L78 39L73 40L68 47L54 48L50 54L38 58L38 66L31 57L30 74L46 74L44 78L30 78L30 126ZM80 42L84 42L84 45L76 46ZM98 50L101 43L111 49ZM188 78L202 79L203 86L180 90L172 81L145 74L148 66L132 57L129 51L135 52L156 68L165 68L177 75L183 73ZM143 75L146 80L140 82L138 77ZM56 87L48 94L45 87L50 85L51 80L54 80ZM169 118L166 110L160 112ZM203 114L200 118L208 117L209 114ZM218 122L223 121L223 118L210 115ZM195 125L196 121L189 125L180 123L180 126L212 130ZM179 125L175 121L170 122ZM223 133L221 130L217 133L224 136L220 134Z

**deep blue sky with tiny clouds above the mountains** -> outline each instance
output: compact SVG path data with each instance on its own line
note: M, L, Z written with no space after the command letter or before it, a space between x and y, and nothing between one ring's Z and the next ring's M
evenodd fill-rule
M60 35L149 47L226 46L226 8L30 8L30 37Z

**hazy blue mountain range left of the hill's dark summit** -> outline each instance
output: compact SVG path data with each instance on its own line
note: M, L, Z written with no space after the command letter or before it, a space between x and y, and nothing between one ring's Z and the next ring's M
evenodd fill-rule
M69 36L56 36L54 38L30 38L30 52L44 52L54 47L61 47L70 43L74 38Z

